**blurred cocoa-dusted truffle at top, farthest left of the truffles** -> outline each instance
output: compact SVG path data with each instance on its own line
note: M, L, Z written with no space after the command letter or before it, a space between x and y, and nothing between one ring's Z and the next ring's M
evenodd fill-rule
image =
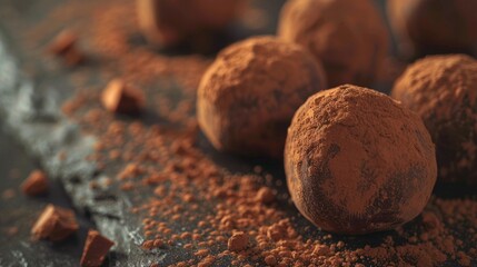
M238 17L244 2L244 0L137 0L139 28L149 42L169 47L207 31L223 29Z

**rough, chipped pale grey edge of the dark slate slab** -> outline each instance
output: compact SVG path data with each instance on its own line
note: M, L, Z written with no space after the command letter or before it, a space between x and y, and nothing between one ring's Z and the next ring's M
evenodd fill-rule
M88 186L88 181L101 178L97 174L95 164L85 160L88 155L92 154L95 138L82 136L78 126L61 115L61 96L56 93L51 87L39 87L20 71L19 60L14 52L9 50L7 38L4 36L0 38L0 110L2 112L2 122L8 131L21 142L29 155L39 159L42 168L51 177L60 179L73 206L80 211L88 210L92 212L91 218L96 222L96 227L118 244L115 248L117 253L112 254L112 258L115 258L113 266L123 266L126 261L142 263L139 248L133 245L133 243L141 244L142 241L142 237L138 236L139 225L136 224L136 218L135 221L128 221L128 217L123 215L123 211L128 209L128 201L126 199L126 201L110 200L108 198L98 199ZM62 152L68 152L66 160L60 160ZM24 174L22 175L24 176ZM43 201L48 201L48 199ZM8 206L17 207L14 202L4 207ZM19 206L23 207L23 205ZM30 208L24 206L24 209L22 208L23 214ZM34 221L40 208L34 209L37 210L34 215L17 216L14 221L21 224L22 228L28 228L27 226ZM8 217L13 218L16 211L11 211L11 208L7 209L7 211L11 212L8 212ZM11 222L11 220L6 221L6 225L9 226ZM44 253L43 260L50 266L78 265L82 240L63 244L64 247L74 247L69 249L74 250L74 253L71 253L71 257L57 257L54 250L51 250L51 255L48 255L48 248L44 245L41 250L36 250L36 247L24 245L29 244L26 233L28 230L22 230L19 236L21 239L19 247L13 244L8 245L9 247L2 247L2 251L10 250L16 260L11 256L7 256L7 254L3 256L2 253L0 263L10 264L12 261L11 266L36 266L38 260L41 259L41 257L36 258L36 254ZM78 236L85 237L85 229ZM63 247L63 245L58 245L58 247ZM26 247L22 248L22 246ZM128 258L126 255L129 255Z

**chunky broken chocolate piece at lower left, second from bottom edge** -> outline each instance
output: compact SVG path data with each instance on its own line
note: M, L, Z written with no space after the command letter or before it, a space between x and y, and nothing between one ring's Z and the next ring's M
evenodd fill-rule
M60 241L78 230L74 212L70 209L48 205L38 218L31 235L34 239Z

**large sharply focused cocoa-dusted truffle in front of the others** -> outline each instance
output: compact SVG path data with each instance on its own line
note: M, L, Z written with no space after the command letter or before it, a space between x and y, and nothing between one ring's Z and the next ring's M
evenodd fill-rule
M298 109L285 169L306 218L351 235L392 229L418 216L437 176L421 119L386 95L349 85L318 92Z

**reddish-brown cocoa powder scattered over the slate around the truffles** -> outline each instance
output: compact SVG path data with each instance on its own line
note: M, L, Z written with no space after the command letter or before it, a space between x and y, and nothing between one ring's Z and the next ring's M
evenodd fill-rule
M468 246L477 241L475 199L434 197L423 216L396 230L337 236L317 230L292 208L281 174L270 174L267 166L240 172L223 168L205 152L208 147L198 135L195 116L196 89L210 60L167 57L131 42L139 32L133 6L122 0L68 1L24 34L34 51L59 26L74 24L88 56L97 60L68 73L78 95L63 110L98 138L89 159L108 176L101 187L120 190L126 185L122 194L133 206L125 212L140 221L143 249L168 253L170 258L151 266L476 263L477 251ZM147 113L123 118L101 107L100 92L116 77L143 89ZM92 82L98 80L105 82ZM229 249L237 235L240 250L236 241L230 248L237 249ZM245 237L247 246L242 246Z

